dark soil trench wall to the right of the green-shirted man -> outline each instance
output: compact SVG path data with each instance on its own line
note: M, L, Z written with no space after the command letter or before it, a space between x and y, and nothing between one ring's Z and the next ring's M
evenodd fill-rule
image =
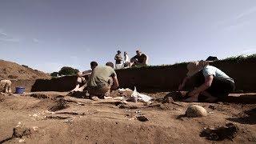
M256 59L242 61L216 61L212 63L224 71L231 78L234 78L237 92L256 91ZM140 69L117 70L118 80L121 87L138 90L178 90L178 85L186 77L186 64L173 66L155 66ZM193 86L194 79L186 85L186 90Z

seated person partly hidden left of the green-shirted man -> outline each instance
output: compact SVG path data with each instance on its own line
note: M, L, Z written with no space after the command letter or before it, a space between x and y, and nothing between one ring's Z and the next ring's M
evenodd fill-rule
M90 68L91 70L86 70L84 72L78 72L77 76L77 84L75 86L75 88L73 90L71 90L71 92L73 91L83 91L86 86L87 86L87 81L90 77L91 72L95 69L95 67L98 66L97 62L90 62Z

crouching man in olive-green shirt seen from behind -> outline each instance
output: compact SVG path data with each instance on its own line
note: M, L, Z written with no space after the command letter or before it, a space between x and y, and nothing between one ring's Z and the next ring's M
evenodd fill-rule
M106 66L97 66L93 70L88 85L90 98L105 98L110 94L110 90L118 89L118 78L114 71L114 64L107 62Z

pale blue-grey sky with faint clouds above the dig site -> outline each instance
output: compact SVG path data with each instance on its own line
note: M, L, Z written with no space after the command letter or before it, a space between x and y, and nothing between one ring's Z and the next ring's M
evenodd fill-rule
M0 0L0 59L48 73L136 50L150 65L256 53L255 0Z

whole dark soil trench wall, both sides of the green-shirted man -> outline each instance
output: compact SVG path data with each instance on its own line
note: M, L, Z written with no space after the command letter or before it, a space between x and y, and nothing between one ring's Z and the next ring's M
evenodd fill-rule
M217 61L212 64L218 67L231 78L234 78L237 92L256 91L256 59L242 61ZM186 76L186 64L172 66L150 66L139 69L116 70L120 87L134 86L139 91L170 91L177 90L182 78ZM193 88L193 79L186 85L186 90ZM13 81L15 86L24 86L26 91L68 91L74 89L76 76L53 78L50 80L18 80Z

